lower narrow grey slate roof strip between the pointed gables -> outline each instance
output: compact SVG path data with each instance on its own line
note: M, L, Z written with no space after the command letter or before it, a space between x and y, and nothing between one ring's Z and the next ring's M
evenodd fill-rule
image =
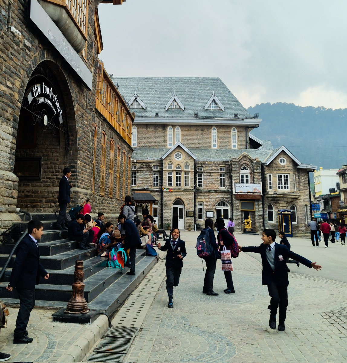
M132 157L139 160L161 160L161 156L164 155L169 149L162 147L139 147L134 148ZM189 148L189 150L197 157L196 161L224 161L228 162L231 159L239 158L244 152L251 156L251 158L258 158L260 161L264 161L271 154L272 151L247 149L247 150L232 150L232 149L198 149Z

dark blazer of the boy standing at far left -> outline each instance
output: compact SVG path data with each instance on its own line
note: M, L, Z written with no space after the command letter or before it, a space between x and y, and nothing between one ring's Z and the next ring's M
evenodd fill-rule
M38 245L26 234L16 250L9 286L32 290L38 285L40 276L46 275L47 271L40 264Z

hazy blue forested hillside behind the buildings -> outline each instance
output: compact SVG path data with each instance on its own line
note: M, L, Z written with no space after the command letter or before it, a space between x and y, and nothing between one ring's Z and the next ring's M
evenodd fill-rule
M284 145L302 163L337 169L347 164L347 109L301 107L293 103L261 103L249 107L259 113L260 127L252 134Z

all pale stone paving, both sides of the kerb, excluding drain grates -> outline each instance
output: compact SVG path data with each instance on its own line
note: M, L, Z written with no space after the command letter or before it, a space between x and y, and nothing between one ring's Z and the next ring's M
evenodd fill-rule
M174 308L168 309L165 253L112 320L113 326L140 328L124 362L345 362L347 359L347 246L289 238L292 250L317 262L317 272L288 265L289 306L284 332L268 326L268 290L261 285L260 256L241 252L233 259L235 294L226 288L220 261L214 281L219 296L202 294L202 261L195 252L198 232L182 232L187 257ZM240 245L259 245L260 236L236 234ZM16 308L9 308L1 330L0 351L15 362L80 362L107 331L103 315L91 325L53 323L54 310L34 309L29 321L31 344L13 344Z

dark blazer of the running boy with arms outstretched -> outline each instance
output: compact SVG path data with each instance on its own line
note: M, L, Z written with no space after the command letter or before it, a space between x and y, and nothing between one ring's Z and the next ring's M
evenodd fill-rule
M298 261L309 268L312 268L311 261L307 260L305 257L300 256L299 254L290 251L285 245L280 245L275 242L275 270L273 271L266 258L267 248L268 245L264 244L261 244L258 247L242 247L243 252L260 253L261 261L263 262L263 273L261 276L262 285L270 285L273 281L278 286L289 285L286 264L287 257L290 257L293 260Z

